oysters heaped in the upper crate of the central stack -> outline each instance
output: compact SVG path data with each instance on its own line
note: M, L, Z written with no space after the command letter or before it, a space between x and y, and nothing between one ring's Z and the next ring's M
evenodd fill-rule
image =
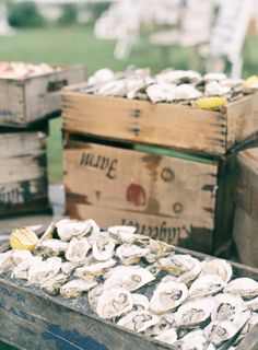
M80 92L114 97L146 100L195 105L201 97L224 96L235 101L258 89L256 77L246 84L242 79L230 79L224 73L201 75L192 70L166 69L152 77L149 69L129 68L122 72L99 69L89 78Z

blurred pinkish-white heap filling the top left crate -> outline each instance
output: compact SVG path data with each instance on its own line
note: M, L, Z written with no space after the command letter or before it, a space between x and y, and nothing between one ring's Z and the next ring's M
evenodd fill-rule
M0 79L25 79L61 70L47 63L0 62Z

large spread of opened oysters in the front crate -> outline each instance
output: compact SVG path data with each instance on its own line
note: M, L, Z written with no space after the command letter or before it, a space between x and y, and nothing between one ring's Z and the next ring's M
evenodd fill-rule
M32 252L0 254L0 273L51 295L87 293L97 316L175 349L233 350L258 322L257 281L233 279L226 260L176 254L133 226L102 231L92 219L62 219Z

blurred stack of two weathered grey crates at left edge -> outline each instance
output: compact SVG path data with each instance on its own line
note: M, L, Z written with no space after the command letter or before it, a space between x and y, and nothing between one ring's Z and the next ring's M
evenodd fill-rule
M49 210L48 119L60 114L60 89L83 79L82 67L0 77L0 217Z

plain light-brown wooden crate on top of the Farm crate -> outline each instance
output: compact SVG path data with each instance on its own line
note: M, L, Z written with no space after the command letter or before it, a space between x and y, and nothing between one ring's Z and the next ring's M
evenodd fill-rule
M258 93L230 103L224 113L176 104L87 95L85 84L62 91L63 127L128 142L222 155L255 138Z

